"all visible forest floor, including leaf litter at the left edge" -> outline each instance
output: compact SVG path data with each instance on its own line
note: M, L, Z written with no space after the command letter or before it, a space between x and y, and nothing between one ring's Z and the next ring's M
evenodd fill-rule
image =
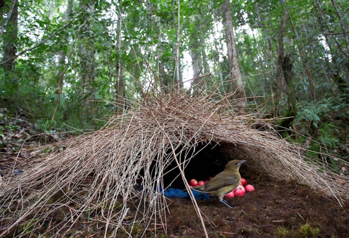
M0 111L0 116L1 113L3 111ZM2 124L0 129L2 129L3 143L0 144L2 145L0 146L0 152L2 152L0 154L0 161L2 161L0 175L8 170L10 161L13 161L15 157L13 152L20 148L19 144L33 133L30 131L32 125L25 121L5 119L8 119L6 125L0 123ZM31 137L30 144L32 146L44 144L47 140L52 142L57 139L45 136L44 138ZM39 139L44 139L44 141L40 143ZM7 140L6 143L5 140ZM255 187L255 191L246 193L243 197L226 199L233 206L232 209L225 207L216 198L197 201L204 214L203 218L209 237L349 237L349 202L344 203L344 206L341 207L332 197L326 198L309 187L292 182L276 181L264 174L243 174L243 177ZM154 224L150 225L145 237L204 237L201 222L189 199L172 198L168 200L168 204L166 233L163 224L157 221L159 225L156 228ZM64 212L64 216L60 214L53 217L53 222L55 219L64 220L70 217L71 211L68 209L61 211ZM135 214L136 207L129 207L129 221L134 218ZM93 220L93 218L88 215L81 216L66 237L104 237L104 224L98 223L96 226L90 223L90 219ZM139 237L143 234L144 224L134 225L132 231L130 224L125 220L124 229L120 229L116 237L128 237L127 232L130 232L132 237ZM21 226L25 225L26 223L19 224L11 237L23 231ZM42 229L47 228L44 225ZM37 232L31 233L31 237L40 237L41 232L38 229ZM107 235L111 233L112 229L108 230ZM57 233L50 235L54 236Z

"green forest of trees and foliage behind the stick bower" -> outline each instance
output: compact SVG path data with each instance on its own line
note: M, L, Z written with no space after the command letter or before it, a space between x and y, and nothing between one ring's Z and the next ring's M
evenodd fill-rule
M236 91L247 112L267 101L265 118L288 117L273 121L283 137L348 161L348 12L346 0L0 0L0 119L96 130L151 82L179 82ZM17 129L2 123L0 139Z

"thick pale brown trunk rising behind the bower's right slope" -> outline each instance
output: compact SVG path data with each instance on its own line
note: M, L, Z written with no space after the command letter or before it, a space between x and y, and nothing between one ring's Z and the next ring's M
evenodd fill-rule
M233 33L233 20L229 0L225 0L221 6L223 13L223 25L225 31L225 41L227 42L229 70L231 82L236 90L236 105L244 111L246 109L246 94L244 84L241 78L240 67L237 58L237 49Z

